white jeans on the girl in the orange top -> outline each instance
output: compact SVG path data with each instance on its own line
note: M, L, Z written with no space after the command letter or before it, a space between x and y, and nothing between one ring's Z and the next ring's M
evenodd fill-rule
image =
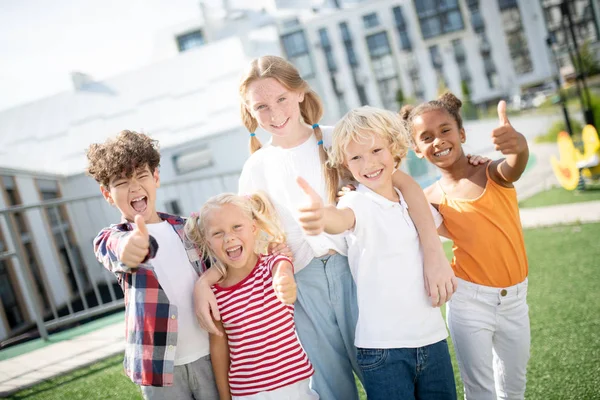
M458 281L447 318L465 398L523 399L531 340L527 279L508 288Z

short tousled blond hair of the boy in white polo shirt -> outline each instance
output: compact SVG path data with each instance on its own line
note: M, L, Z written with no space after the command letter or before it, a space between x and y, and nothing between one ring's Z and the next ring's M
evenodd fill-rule
M338 170L343 179L354 179L346 167L346 148L350 142L371 140L373 135L387 140L395 166L398 167L410 145L406 127L397 114L370 106L350 110L335 125L333 145L329 150L329 166ZM337 191L337 187L327 186L330 196L335 196Z

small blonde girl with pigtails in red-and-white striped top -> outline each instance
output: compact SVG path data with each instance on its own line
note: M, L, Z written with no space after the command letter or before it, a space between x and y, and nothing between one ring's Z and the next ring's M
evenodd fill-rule
M225 335L210 335L221 399L318 399L314 373L294 327L296 284L291 260L266 254L283 243L265 195L221 194L186 222L185 233L221 280L212 287Z

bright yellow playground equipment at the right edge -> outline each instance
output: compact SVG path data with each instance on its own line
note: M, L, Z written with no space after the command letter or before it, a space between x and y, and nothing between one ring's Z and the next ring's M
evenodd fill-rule
M600 139L593 125L586 125L581 133L583 153L567 132L560 132L556 140L560 159L551 158L552 169L561 186L567 190L583 190L586 184L600 182Z

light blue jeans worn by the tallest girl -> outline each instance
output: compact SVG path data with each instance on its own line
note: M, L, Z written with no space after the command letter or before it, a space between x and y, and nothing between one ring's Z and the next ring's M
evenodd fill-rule
M315 369L311 388L323 400L358 399L352 373L362 381L354 346L358 305L348 258L314 258L296 283L296 330Z

